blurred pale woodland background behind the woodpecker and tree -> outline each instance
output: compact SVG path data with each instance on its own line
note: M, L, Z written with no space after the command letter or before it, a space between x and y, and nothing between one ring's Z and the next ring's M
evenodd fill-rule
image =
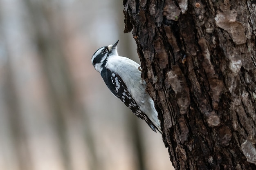
M159 133L91 64L124 34L119 0L0 0L0 170L172 170Z

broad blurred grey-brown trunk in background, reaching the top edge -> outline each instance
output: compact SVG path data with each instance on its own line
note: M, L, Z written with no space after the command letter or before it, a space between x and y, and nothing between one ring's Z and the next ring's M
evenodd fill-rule
M72 110L72 85L64 53L59 46L63 40L63 32L54 26L57 18L58 24L63 24L61 11L57 7L57 2L54 4L51 1L25 0L25 2L33 23L36 46L47 76L49 104L55 116L64 167L66 170L71 170L65 114L67 114L66 110Z

